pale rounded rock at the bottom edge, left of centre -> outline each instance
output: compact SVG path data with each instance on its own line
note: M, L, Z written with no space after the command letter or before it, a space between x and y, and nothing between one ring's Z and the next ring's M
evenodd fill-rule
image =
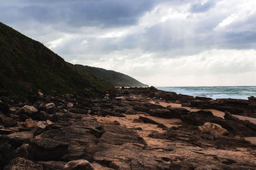
M64 166L65 170L95 170L87 160L72 160Z

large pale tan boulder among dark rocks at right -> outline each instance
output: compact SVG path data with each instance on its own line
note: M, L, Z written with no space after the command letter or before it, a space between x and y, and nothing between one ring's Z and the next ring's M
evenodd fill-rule
M218 124L212 124L210 122L206 122L204 125L198 126L198 129L202 132L210 132L214 136L228 134L228 131L226 129L224 129Z

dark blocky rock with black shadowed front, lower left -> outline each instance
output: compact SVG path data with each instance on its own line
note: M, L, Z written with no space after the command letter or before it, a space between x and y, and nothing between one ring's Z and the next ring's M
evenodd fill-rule
M68 143L49 138L31 139L31 145L35 148L36 160L57 159L67 153Z

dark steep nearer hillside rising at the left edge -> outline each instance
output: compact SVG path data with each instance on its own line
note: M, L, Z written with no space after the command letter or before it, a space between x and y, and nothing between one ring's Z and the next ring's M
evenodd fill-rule
M0 91L24 95L40 89L48 94L113 90L99 80L11 27L0 22Z

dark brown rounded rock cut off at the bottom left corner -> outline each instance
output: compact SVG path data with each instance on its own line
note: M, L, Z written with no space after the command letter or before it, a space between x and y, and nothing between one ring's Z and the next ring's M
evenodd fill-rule
M42 165L35 164L31 160L24 158L13 159L7 166L4 167L4 170L43 170Z

